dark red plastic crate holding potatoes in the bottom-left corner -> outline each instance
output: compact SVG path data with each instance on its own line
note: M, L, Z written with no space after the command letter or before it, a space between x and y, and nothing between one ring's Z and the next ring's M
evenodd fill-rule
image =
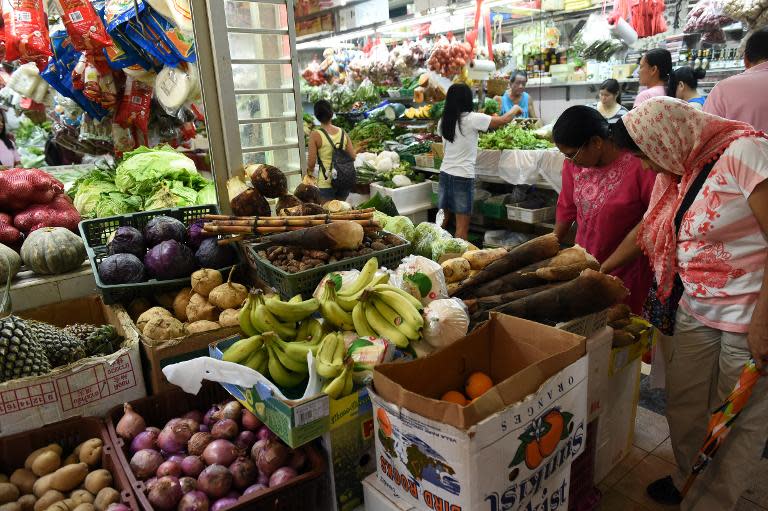
M34 424L30 424L35 427ZM128 475L117 459L117 449L107 428L95 417L74 417L24 433L0 438L0 473L10 475L17 468L24 468L24 460L35 449L49 444L59 444L64 454L91 438L101 438L101 468L112 474L111 486L120 492L120 500L131 510L139 509Z

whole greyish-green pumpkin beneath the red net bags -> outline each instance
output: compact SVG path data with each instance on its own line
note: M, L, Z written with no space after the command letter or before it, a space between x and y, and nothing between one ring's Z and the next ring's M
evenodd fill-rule
M83 240L63 227L43 227L32 231L21 246L24 264L42 275L72 271L85 258Z

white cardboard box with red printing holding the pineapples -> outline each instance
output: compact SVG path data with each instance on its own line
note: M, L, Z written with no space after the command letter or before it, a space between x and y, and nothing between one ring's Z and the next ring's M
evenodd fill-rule
M101 417L115 405L146 396L139 339L126 331L120 306L89 296L17 313L56 326L73 323L113 325L125 337L123 347L105 357L90 357L45 376L0 384L0 436L20 433L79 416Z

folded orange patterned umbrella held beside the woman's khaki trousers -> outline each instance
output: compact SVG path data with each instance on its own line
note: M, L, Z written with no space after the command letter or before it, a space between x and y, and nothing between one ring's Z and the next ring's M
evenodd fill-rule
M699 449L699 455L693 464L691 475L688 476L688 480L685 482L681 492L683 496L688 493L696 477L712 461L720 444L728 436L728 432L733 427L736 417L739 416L744 409L744 405L747 404L749 396L752 394L752 389L755 387L755 382L757 382L759 377L760 372L757 370L755 361L749 359L749 362L744 365L739 381L736 382L736 386L731 391L731 394L709 419L707 438L704 440L704 445Z

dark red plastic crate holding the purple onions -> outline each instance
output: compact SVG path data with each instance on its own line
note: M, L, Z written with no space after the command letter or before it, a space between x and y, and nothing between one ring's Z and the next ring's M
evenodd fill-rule
M205 382L197 395L187 394L181 390L163 392L152 397L145 397L132 401L133 409L146 421L148 426L162 428L166 422L174 417L181 417L190 410L205 412L211 405L222 401L230 401L232 396L218 384ZM136 494L136 500L140 507L131 509L144 509L151 511L154 508L146 497L146 486L139 481L131 471L127 454L128 445L117 436L115 426L123 416L123 406L116 406L106 416L107 429L112 444L115 446L117 459L130 481ZM307 446L307 461L310 468L307 472L297 476L289 482L271 488L265 493L240 497L237 505L229 507L230 510L248 511L287 511L291 509L315 509L321 502L328 499L326 489L326 463L325 457L320 453L319 447Z

